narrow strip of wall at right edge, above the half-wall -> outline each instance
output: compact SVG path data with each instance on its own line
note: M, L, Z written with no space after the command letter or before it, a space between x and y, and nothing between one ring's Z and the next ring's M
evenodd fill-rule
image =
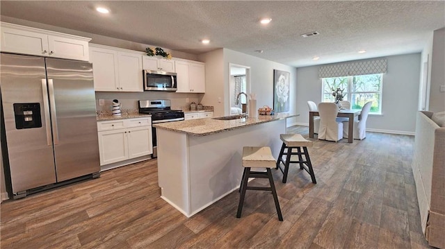
M439 92L445 85L445 28L434 31L430 66L430 106L431 112L445 111L445 92Z

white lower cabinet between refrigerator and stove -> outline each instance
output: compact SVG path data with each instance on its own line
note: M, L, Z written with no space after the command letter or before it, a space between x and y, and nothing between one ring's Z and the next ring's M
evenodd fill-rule
M152 154L151 123L150 117L97 122L100 165Z

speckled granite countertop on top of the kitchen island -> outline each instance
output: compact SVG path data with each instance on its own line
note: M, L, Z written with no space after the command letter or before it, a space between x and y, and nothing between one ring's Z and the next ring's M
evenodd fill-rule
M209 118L209 119L191 119L186 121L177 121L170 123L156 123L153 126L160 129L186 133L192 136L207 136L218 132L234 130L236 128L254 126L259 123L266 123L270 121L277 121L281 119L287 119L298 116L300 116L300 114L278 113L275 115L259 115L258 117L255 118L248 118L245 121L241 119L217 120Z

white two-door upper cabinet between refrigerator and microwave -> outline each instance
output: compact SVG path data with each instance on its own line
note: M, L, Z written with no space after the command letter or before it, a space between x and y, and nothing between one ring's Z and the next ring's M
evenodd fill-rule
M90 45L90 62L97 92L143 92L142 54Z

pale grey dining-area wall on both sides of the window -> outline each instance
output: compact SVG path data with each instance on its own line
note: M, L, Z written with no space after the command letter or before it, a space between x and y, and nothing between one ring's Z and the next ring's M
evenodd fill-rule
M383 74L382 115L370 115L366 128L371 131L414 134L419 100L421 54L388 56ZM297 123L307 126L307 101L321 102L318 66L297 69Z

